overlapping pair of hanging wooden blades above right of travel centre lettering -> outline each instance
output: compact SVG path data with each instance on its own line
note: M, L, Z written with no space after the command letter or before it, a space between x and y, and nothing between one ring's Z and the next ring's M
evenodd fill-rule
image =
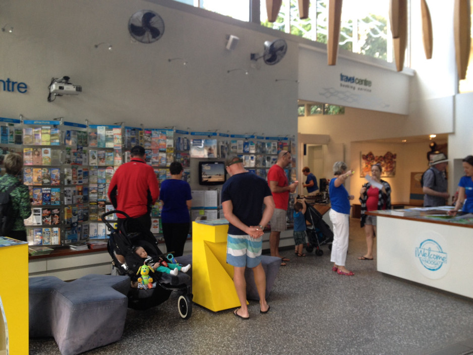
M407 45L407 0L391 0L389 4L394 58L398 72L404 68L405 48Z

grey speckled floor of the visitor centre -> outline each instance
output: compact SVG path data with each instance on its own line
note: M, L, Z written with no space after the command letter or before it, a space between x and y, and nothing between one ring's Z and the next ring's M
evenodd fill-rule
M346 266L355 276L331 271L330 253L290 258L279 269L259 313L211 312L194 304L182 320L174 294L147 310L128 310L122 340L87 354L435 354L473 353L473 300L381 274L374 261L359 261L366 243L350 220ZM472 280L465 280L472 284ZM52 338L30 339L30 354L60 354Z

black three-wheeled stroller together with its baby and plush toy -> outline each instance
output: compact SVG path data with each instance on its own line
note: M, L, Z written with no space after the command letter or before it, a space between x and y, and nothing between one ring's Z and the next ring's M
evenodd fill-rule
M120 230L113 228L105 218L113 213L120 213L127 218ZM166 301L171 292L175 290L180 294L178 298L179 314L183 319L189 318L192 314L192 281L184 271L187 272L191 265L180 265L172 254L163 254L151 231L148 233L128 233L127 220L129 218L130 216L125 212L118 210L102 215L102 221L110 231L107 249L108 254L112 257L112 273L127 275L131 280L132 287L128 294L128 307L145 310L157 306ZM145 258L142 258L143 255L146 255ZM143 265L149 270L153 270L152 280L149 280L149 270L148 274L142 274L143 269L146 269L146 267L142 268ZM140 282L139 277L141 278ZM143 282L145 279L146 281Z

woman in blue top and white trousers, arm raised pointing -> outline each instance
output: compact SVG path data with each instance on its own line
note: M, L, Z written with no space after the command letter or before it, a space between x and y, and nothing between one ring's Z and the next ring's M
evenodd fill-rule
M347 167L343 161L337 161L333 164L334 178L330 180L328 194L330 196L330 220L333 224L333 243L330 261L333 262L332 271L336 271L339 275L353 276L354 273L345 267L346 252L348 250L349 235L349 216L350 216L350 200L354 199L353 195L343 186L353 171L346 171Z

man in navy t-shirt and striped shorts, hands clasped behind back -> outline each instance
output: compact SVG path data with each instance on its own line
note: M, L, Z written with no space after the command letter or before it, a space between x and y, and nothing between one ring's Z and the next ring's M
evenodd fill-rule
M225 160L230 175L222 187L222 209L230 223L227 236L228 264L233 265L233 283L241 307L233 311L240 318L250 318L247 307L246 267L252 268L260 297L260 312L267 313L266 275L261 265L263 229L274 212L274 201L268 184L243 167L238 156ZM263 211L263 206L265 206Z

